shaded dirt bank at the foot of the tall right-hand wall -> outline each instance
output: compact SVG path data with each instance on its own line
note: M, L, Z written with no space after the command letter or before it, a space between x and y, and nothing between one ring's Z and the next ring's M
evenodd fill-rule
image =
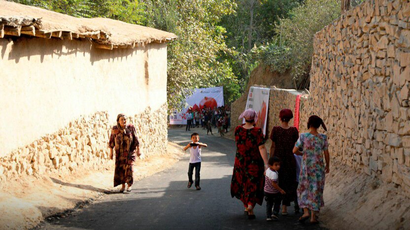
M231 131L225 138L235 140ZM410 194L332 159L323 199L320 221L328 229L410 229Z

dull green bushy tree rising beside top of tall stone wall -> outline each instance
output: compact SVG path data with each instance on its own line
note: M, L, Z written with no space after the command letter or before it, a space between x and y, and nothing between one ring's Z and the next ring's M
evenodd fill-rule
M307 87L313 36L337 19L340 10L338 0L306 0L289 12L289 18L278 21L273 43L256 49L255 57L278 72L291 68L292 75L300 83L299 88Z

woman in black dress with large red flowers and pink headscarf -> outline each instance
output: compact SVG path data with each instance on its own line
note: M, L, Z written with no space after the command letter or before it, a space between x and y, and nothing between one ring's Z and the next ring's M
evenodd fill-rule
M235 128L237 152L231 181L231 196L245 206L249 219L255 219L253 208L262 205L264 198L264 172L268 168L268 154L261 128L255 127L257 115L246 110L239 119L245 123Z

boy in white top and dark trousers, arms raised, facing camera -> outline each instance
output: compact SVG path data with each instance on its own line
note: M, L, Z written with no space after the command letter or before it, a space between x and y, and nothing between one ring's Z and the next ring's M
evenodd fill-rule
M201 171L201 147L207 147L208 145L199 142L199 134L191 134L191 141L184 147L184 151L190 148L191 158L189 159L189 168L188 168L188 188L191 188L194 181L192 180L192 174L194 174L195 168L195 187L197 190L201 190L199 186L200 181L200 171Z

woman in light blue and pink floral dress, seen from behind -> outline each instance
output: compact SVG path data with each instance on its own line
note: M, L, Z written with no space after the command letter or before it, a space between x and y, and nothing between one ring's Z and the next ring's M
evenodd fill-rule
M299 221L303 222L309 219L308 211L310 210L310 223L312 224L319 223L316 214L324 206L325 173L329 173L327 136L317 132L320 125L327 131L320 117L310 116L308 120L309 132L301 134L293 148L295 154L303 156L297 194L299 206L303 208L304 214ZM322 152L325 156L326 166L323 162Z

